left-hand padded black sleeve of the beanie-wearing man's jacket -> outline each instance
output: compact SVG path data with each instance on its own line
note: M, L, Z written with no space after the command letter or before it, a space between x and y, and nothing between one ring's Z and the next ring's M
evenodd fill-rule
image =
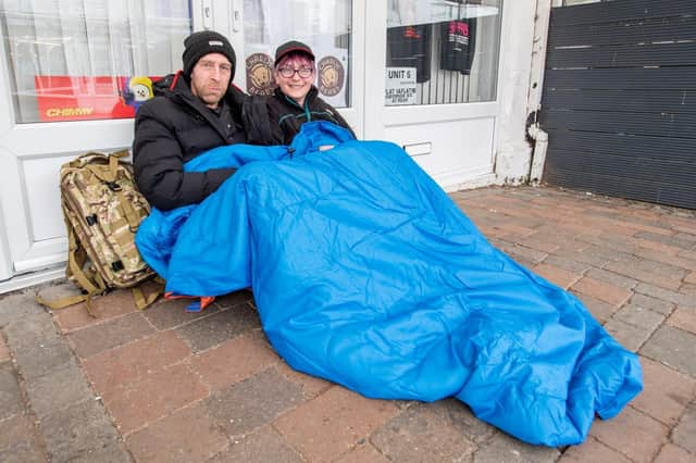
M145 198L161 211L198 203L234 174L234 168L184 172L176 128L156 104L140 107L133 143L136 182Z

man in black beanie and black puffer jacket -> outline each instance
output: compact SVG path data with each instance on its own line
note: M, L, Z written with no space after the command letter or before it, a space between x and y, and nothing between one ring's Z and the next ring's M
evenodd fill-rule
M183 71L154 84L154 97L138 110L133 142L139 190L161 211L202 201L234 168L185 173L184 163L223 145L243 143L246 96L232 85L235 51L219 33L184 40Z

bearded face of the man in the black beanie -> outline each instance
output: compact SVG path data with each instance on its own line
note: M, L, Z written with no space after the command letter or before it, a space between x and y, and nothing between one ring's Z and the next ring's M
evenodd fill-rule
M208 108L217 108L227 92L231 77L229 60L221 53L208 53L198 60L191 71L191 92Z

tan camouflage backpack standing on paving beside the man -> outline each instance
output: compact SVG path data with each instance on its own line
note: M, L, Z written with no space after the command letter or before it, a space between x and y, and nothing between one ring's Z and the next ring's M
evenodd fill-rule
M132 165L112 154L89 152L60 171L61 207L67 227L65 275L84 295L42 304L60 309L85 301L94 315L91 297L114 288L132 288L136 305L145 309L160 295L145 297L139 285L156 276L135 246L135 233L150 205L135 187Z

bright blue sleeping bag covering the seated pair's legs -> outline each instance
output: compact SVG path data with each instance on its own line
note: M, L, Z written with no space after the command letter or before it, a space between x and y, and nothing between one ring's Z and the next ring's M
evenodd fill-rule
M198 205L153 211L137 246L166 290L252 287L289 365L370 398L456 397L531 443L582 442L642 389L637 356L582 302L489 245L399 147L309 123Z

